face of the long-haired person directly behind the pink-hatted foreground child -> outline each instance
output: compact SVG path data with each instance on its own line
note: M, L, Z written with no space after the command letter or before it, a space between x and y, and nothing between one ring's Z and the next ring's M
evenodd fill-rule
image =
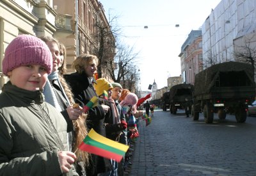
M60 49L57 43L46 42L46 44L52 53L52 72L55 72L61 67L64 57L60 56Z

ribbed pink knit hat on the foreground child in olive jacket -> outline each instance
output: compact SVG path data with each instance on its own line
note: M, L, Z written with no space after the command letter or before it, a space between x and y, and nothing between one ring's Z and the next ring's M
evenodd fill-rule
M52 55L49 47L40 38L32 35L19 35L12 40L4 53L3 74L22 65L42 65L50 74Z

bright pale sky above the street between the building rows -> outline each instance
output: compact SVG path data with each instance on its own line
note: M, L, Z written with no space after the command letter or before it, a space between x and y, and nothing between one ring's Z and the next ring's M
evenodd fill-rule
M221 0L99 0L106 17L118 16L122 40L140 52L141 90L156 80L157 88L167 78L180 76L180 48L191 30L200 29ZM179 24L179 28L175 27ZM148 26L148 29L144 29Z

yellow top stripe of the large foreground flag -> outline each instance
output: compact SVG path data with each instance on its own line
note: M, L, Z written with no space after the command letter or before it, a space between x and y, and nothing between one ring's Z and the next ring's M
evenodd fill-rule
M129 148L128 145L124 145L122 143L118 143L116 141L109 140L108 138L104 138L104 136L97 134L97 132L95 132L93 129L91 129L91 131L88 133L87 136L90 137L94 141L102 143L111 148L116 148L116 150L120 150L122 152L126 152ZM87 136L86 136L86 138L87 138ZM86 142L85 139L84 139L84 142Z

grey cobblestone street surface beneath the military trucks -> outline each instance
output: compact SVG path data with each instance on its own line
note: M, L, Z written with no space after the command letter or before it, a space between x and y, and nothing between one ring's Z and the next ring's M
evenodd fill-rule
M184 112L156 111L152 123L142 121L125 176L205 175L256 176L256 118L237 123L234 115L205 124Z

